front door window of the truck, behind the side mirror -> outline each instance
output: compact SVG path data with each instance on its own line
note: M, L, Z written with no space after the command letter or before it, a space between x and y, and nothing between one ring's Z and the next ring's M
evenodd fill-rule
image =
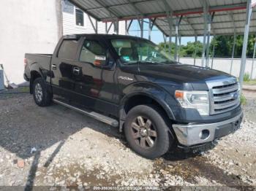
M85 40L80 52L79 61L94 64L94 66L106 65L107 49L97 41Z

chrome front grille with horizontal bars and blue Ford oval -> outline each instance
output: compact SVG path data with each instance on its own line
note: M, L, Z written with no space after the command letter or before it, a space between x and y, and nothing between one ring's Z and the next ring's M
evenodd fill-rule
M228 112L240 104L239 85L236 78L206 82L209 87L210 114Z

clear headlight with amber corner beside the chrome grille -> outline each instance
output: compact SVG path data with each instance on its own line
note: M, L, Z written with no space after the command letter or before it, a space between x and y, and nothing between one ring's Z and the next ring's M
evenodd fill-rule
M209 96L207 91L176 90L175 97L182 107L197 109L201 115L209 114Z

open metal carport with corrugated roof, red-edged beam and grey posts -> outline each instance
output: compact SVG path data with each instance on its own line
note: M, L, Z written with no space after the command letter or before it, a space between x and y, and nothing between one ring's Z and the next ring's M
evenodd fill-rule
M164 36L175 36L174 58L178 58L178 38L203 36L202 66L208 67L209 43L212 35L244 34L239 82L242 85L246 64L249 30L256 32L256 0L69 0L97 21L110 22L118 33L118 21L126 21L128 34L132 20L138 20L143 37L143 19L149 19L149 35L157 26ZM252 20L251 20L252 16ZM252 21L252 22L251 22ZM251 23L250 23L251 22ZM97 22L91 22L97 32ZM106 32L108 25L106 24ZM166 39L166 38L165 38ZM169 46L170 47L170 46ZM235 48L235 40L233 50ZM234 52L234 51L233 51ZM233 56L232 56L233 58Z

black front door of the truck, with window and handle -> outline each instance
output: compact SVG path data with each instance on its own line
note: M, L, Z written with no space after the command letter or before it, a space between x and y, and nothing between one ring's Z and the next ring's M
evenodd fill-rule
M115 62L102 39L86 37L75 63L75 93L80 104L118 116Z

